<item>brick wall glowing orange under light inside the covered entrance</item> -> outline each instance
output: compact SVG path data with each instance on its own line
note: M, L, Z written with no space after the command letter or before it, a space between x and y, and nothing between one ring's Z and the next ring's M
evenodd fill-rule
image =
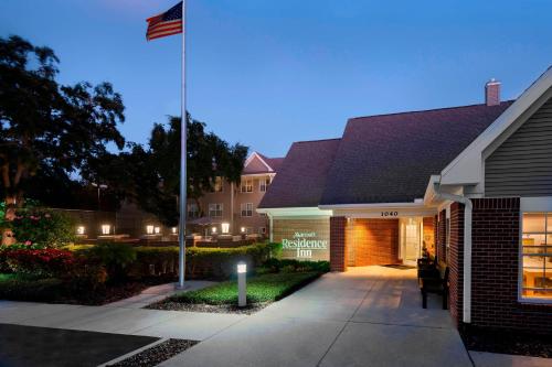
M354 247L355 267L397 263L399 219L354 219L348 246Z

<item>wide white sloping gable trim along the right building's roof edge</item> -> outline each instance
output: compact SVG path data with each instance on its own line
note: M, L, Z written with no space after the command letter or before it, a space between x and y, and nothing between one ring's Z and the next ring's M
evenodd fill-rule
M478 184L481 173L482 153L546 90L552 87L552 67L549 67L521 96L500 115L479 137L458 154L443 171L442 185Z

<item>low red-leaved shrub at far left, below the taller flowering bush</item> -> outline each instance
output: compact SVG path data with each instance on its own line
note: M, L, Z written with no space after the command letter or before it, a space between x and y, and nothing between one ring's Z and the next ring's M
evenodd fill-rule
M59 249L14 249L3 253L11 271L41 278L61 277L75 261L71 251Z

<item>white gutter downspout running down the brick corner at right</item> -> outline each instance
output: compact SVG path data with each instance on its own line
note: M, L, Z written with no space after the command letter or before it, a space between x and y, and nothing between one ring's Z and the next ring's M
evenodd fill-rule
M461 203L464 208L464 298L463 298L463 322L471 323L471 213L474 205L466 196L443 193L440 182L433 184L436 198L449 199Z

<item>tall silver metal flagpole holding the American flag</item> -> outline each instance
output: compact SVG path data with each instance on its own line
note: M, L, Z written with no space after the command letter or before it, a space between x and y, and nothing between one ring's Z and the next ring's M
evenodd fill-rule
M185 0L182 0L182 110L180 119L180 220L179 220L179 280L178 288L184 288L185 278L185 194L187 194L187 176L185 176L185 160L187 160L187 126L188 116L185 114L185 34L188 29L184 28L185 24Z

